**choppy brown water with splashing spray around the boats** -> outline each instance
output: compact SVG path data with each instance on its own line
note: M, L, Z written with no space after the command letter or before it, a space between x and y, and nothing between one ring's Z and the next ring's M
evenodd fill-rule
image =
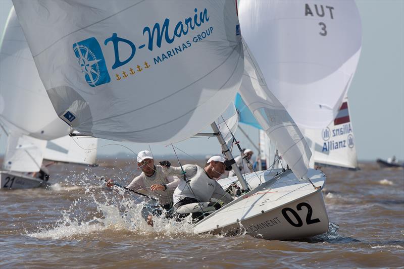
M186 223L162 220L151 228L137 198L92 178L125 184L138 171L125 161L101 164L57 165L50 188L0 192L0 267L404 267L402 169L324 169L330 231L298 242L193 235Z

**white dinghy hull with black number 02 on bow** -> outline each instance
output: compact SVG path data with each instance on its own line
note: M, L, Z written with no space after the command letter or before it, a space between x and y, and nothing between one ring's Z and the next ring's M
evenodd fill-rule
M321 171L311 169L310 178L318 189L299 182L289 171L275 178L264 171L257 174L247 175L247 181L254 186L261 178L263 184L195 224L194 232L248 234L269 240L298 240L327 232L328 216L321 191L325 176Z

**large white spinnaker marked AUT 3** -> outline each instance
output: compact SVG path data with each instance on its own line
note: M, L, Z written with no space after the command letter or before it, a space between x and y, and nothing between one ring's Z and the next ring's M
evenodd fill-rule
M337 115L361 51L354 1L241 1L241 32L269 89L299 127Z

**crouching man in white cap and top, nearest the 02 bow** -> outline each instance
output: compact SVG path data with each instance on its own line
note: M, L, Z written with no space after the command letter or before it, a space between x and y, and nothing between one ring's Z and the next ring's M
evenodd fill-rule
M233 200L233 197L217 183L225 171L224 162L223 157L215 155L208 159L205 168L197 165L170 168L170 173L185 172L186 175L186 180L180 181L173 195L177 217L184 218L191 214L192 219L198 221L204 218L204 213L219 209L221 207L219 201L229 203Z

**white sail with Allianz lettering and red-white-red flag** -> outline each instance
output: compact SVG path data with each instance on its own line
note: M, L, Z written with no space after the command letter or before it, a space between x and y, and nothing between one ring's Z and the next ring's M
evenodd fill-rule
M310 167L358 169L354 129L349 117L346 95L332 123L324 129L304 129L302 132L313 152Z

